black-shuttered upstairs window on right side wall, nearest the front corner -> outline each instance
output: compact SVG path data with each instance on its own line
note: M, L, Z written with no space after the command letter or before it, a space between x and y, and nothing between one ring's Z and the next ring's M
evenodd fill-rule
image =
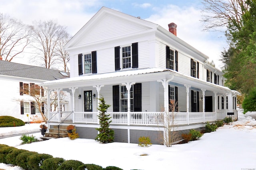
M174 52L169 46L166 46L166 68L174 70L174 67L178 71L178 51Z

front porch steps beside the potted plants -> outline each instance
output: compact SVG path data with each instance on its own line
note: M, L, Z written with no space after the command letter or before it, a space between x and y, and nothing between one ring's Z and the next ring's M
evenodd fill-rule
M53 128L48 129L48 131L49 132L44 133L44 137L42 137L43 140L68 137L67 126L60 126L58 129L58 126L54 125Z

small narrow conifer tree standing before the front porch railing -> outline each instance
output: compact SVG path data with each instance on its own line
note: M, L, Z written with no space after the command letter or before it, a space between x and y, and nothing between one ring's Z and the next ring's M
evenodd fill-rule
M98 115L98 118L100 120L100 128L96 128L96 130L99 131L99 134L97 135L95 140L106 144L114 141L114 130L109 128L109 124L111 123L110 114L106 114L110 105L105 103L103 97L99 100L101 103L97 109L100 111Z

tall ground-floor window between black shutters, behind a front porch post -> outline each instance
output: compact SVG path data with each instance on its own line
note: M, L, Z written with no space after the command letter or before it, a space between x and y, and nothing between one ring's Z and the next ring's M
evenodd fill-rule
M126 86L121 86L121 112L128 111L128 91ZM133 107L133 86L130 89L130 111L134 111Z

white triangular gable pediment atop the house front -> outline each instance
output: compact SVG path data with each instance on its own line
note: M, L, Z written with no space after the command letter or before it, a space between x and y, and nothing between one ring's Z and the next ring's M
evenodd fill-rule
M66 44L65 48L82 47L108 42L120 37L140 34L156 28L157 24L103 7Z

